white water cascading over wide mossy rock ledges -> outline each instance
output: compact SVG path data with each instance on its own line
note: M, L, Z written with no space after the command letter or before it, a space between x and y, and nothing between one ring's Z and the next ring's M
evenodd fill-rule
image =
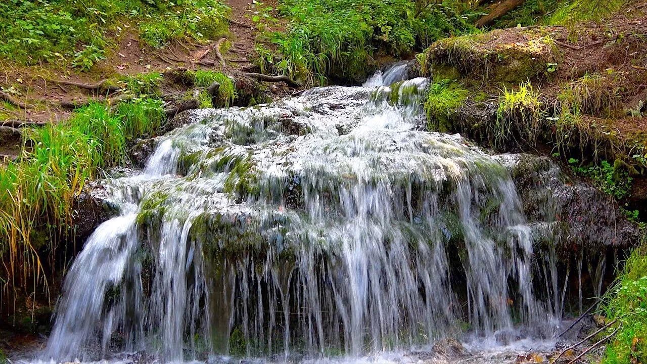
M107 181L120 216L76 258L41 358L362 356L466 326L551 336L563 299L532 228L550 218L527 221L518 156L422 131L426 83L203 110L159 139L140 174Z

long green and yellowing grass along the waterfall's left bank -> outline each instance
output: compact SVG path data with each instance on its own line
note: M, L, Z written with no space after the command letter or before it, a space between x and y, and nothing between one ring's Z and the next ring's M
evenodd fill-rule
M91 104L58 124L25 130L28 147L0 170L0 255L10 280L5 290L43 284L43 245L55 244L51 236L71 222L74 197L102 168L122 163L127 142L155 133L164 117L158 100L133 100L116 113ZM39 233L49 238L36 239Z

